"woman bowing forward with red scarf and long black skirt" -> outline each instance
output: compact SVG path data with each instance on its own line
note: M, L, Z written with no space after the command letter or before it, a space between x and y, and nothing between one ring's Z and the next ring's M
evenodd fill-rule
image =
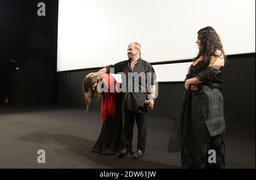
M101 155L115 155L123 148L122 141L122 95L118 93L119 84L110 74L101 74L84 78L82 92L88 111L94 96L101 97L101 119L103 120L100 136L94 147L93 153ZM98 92L100 91L100 92Z

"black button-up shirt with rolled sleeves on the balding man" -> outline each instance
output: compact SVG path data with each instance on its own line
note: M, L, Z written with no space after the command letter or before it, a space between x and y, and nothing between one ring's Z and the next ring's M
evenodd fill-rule
M145 101L148 100L148 97L150 96L150 85L156 83L155 71L150 63L141 58L138 59L137 63L134 65L133 71L131 71L130 62L130 59L128 59L126 61L115 63L115 65L106 66L107 73L112 72L118 74L118 72L122 72L123 75L125 75L122 75L122 87L123 85L126 87L122 88L126 90L126 92L123 92L122 109L145 113L147 112ZM111 71L110 68L114 68L114 71ZM129 72L132 72L134 75L133 78L128 78ZM130 76L132 74L130 73Z

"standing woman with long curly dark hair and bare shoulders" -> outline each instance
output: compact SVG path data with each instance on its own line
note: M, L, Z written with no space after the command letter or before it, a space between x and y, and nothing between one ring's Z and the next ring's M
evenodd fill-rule
M197 32L199 53L185 78L180 113L168 152L181 150L183 168L224 168L225 118L221 68L225 53L212 27Z

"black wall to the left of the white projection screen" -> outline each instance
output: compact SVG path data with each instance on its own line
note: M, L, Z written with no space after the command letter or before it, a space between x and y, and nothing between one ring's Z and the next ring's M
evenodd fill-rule
M39 2L45 3L46 16L38 16ZM57 0L0 1L0 103L7 95L17 97L13 87L25 90L23 97L11 98L11 104L56 102L57 12ZM20 71L14 72L13 67L20 65ZM22 75L18 86L13 85L17 73Z

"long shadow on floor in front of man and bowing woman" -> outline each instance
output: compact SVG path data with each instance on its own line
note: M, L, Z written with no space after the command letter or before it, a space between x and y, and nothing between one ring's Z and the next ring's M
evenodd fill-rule
M34 142L38 144L53 144L63 145L63 149L55 149L53 152L61 156L72 158L82 164L91 166L92 168L146 168L146 169L177 169L179 167L157 162L146 161L144 158L134 160L133 158L117 158L116 155L104 156L91 152L93 145L96 142L84 139L79 136L65 134L49 134L46 132L30 132L21 136L19 139L26 142ZM50 148L50 147L49 147ZM100 165L100 166L97 166Z

